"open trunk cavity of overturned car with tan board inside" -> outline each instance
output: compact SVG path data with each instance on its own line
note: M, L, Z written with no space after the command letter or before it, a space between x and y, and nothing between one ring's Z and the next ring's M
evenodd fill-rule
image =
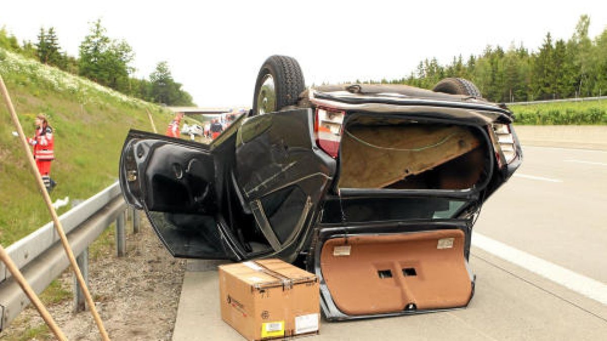
M456 170L443 170L463 155ZM348 126L341 140L339 187L466 189L478 181L483 156L480 141L466 127ZM432 186L425 172L435 169Z

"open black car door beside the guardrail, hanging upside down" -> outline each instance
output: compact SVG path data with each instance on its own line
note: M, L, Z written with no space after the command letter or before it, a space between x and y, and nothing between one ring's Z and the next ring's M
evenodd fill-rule
M120 158L125 200L143 209L174 257L235 258L217 224L208 146L131 130Z

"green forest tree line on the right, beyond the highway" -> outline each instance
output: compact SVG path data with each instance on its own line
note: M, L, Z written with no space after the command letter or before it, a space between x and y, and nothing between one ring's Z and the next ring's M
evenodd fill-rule
M582 15L571 38L554 41L547 33L535 52L529 52L523 44L512 44L507 50L487 46L481 55L470 55L467 60L459 55L443 66L436 58L425 59L408 77L364 83L432 89L443 78L461 77L475 83L485 98L495 102L605 95L607 28L591 39L589 25L589 16Z

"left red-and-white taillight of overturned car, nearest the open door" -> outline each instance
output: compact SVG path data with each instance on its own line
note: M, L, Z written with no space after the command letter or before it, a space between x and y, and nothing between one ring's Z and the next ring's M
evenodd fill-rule
M342 136L342 123L345 112L330 109L316 109L314 115L314 138L316 145L331 157L339 154L339 143Z

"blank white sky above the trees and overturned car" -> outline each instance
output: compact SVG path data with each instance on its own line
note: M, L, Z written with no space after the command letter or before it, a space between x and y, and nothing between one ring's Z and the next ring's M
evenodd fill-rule
M2 1L0 26L36 41L55 27L78 56L89 22L135 52L136 76L159 61L198 106L251 106L257 72L270 55L293 56L306 83L393 79L436 56L478 55L487 44L540 46L547 32L568 39L582 14L589 35L607 27L607 1Z

